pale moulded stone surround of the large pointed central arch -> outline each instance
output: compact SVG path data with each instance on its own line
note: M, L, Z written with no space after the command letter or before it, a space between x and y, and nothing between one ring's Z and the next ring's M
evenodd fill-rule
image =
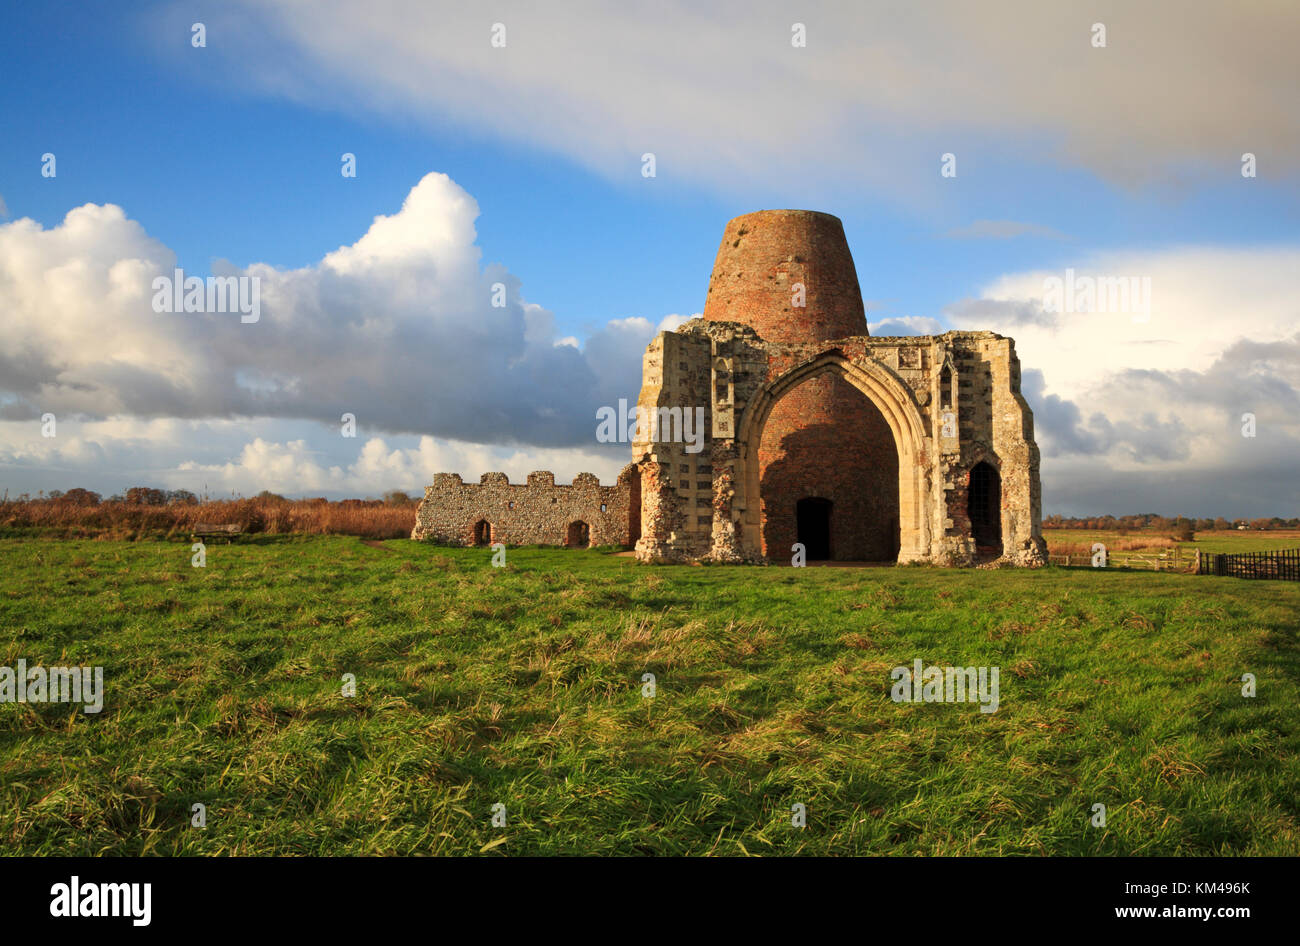
M768 381L750 400L741 421L734 508L741 509L741 542L751 555L762 544L762 486L759 447L767 418L780 399L803 381L832 373L842 377L884 417L898 451L898 557L900 563L931 557L930 476L926 428L910 389L889 368L874 360L850 361L841 352L826 352Z

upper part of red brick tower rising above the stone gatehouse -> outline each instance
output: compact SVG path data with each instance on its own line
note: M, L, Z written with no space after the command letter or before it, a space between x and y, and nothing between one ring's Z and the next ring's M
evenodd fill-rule
M805 305L794 304L802 283ZM758 211L732 220L708 281L705 318L744 322L766 342L866 335L858 273L838 217Z

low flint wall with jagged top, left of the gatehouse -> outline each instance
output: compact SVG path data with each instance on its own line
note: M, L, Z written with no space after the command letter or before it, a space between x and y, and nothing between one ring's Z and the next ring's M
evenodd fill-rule
M465 483L456 473L438 473L424 491L416 511L413 539L472 546L500 542L506 546L581 544L586 525L590 546L630 546L634 517L632 499L640 489L640 473L628 465L614 486L601 486L590 473L578 473L572 485L556 485L555 474L528 474L528 483L511 483L504 473L484 473L477 483ZM486 528L476 526L485 522Z

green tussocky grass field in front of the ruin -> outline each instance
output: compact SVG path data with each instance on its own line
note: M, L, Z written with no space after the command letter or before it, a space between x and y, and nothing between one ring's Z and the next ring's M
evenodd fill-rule
M0 665L107 686L0 704L6 854L1300 854L1300 585L190 556L0 541ZM915 658L1000 667L1000 710L892 702Z

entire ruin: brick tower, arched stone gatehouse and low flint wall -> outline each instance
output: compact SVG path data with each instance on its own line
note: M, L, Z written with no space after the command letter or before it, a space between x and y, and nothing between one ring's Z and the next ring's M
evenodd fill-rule
M684 438L682 412L703 412ZM1045 560L1039 450L1011 339L872 338L836 217L727 225L702 318L645 353L612 487L438 474L412 538L624 544L642 561Z

